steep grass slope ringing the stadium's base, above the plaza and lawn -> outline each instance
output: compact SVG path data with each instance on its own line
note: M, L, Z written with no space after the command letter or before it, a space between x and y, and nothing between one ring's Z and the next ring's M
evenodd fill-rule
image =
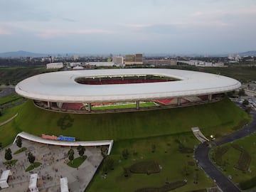
M79 140L134 139L191 132L200 127L206 136L232 132L232 127L250 117L228 98L208 105L168 110L127 112L114 114L70 114L71 127L61 129L58 119L66 114L41 110L29 101L18 107L18 117L1 129L31 134L63 134ZM3 117L4 119L4 117ZM1 119L0 119L1 120ZM11 126L10 126L11 125ZM9 131L7 131L9 132ZM0 136L1 139L1 136Z

